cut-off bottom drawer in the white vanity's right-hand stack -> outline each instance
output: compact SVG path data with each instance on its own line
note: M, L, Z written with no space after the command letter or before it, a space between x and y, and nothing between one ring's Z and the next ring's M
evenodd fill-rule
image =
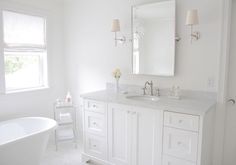
M164 155L162 165L196 165L196 164L183 159L177 159L175 157Z

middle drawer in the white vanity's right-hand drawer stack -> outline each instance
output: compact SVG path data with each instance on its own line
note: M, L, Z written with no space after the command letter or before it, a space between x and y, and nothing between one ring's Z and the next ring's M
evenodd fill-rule
M198 151L198 133L164 127L163 152L195 162Z

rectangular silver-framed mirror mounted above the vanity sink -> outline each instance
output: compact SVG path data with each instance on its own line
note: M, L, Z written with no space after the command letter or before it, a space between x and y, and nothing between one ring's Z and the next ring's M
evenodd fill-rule
M175 0L132 7L133 74L174 76Z

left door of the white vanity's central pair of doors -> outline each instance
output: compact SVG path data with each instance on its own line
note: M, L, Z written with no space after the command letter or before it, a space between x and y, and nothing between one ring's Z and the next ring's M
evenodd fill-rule
M109 161L116 165L131 165L130 106L108 105Z

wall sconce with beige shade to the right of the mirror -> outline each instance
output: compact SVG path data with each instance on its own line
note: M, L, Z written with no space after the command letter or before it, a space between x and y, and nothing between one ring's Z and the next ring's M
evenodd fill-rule
M200 39L200 33L197 31L193 31L193 26L198 24L199 24L198 11L196 9L188 10L186 17L186 25L191 27L191 43L193 40Z

